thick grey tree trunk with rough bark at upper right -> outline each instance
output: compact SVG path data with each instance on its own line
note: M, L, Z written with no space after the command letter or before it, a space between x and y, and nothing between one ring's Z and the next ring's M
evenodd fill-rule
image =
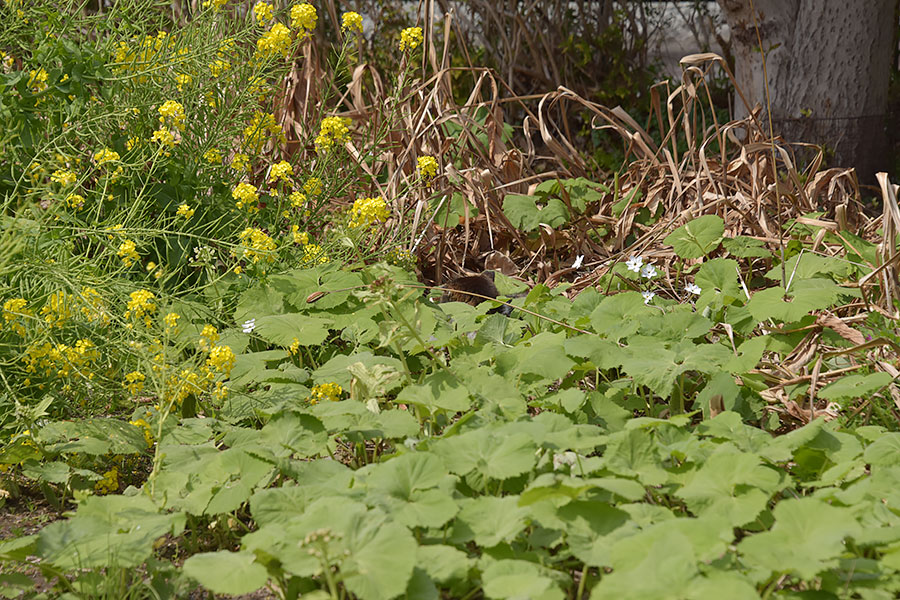
M766 107L749 0L718 0L731 28L735 77ZM875 181L887 167L885 113L897 0L754 0L777 134L824 144L833 163ZM740 98L738 117L747 114Z

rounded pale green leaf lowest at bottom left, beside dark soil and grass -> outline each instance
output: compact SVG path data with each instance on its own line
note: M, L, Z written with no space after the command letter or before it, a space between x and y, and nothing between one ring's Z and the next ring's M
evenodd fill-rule
M249 594L266 584L266 568L250 552L203 552L184 561L185 575L214 594Z

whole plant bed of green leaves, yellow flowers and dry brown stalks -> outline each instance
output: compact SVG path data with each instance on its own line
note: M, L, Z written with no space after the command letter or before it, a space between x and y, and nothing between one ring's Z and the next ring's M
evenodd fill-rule
M896 188L320 8L0 4L0 592L895 597Z

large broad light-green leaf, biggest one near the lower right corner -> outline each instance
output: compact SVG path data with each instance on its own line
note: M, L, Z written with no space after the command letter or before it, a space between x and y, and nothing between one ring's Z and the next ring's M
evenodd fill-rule
M782 500L772 512L775 525L770 531L745 538L738 545L749 565L772 574L811 580L837 565L846 550L844 538L859 531L852 509L817 498Z

